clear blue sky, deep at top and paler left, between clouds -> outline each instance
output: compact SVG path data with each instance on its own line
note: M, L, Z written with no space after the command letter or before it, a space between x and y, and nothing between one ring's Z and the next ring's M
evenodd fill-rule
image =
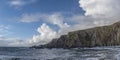
M52 29L58 31L60 29L59 26L46 22L44 18L37 19L37 17L35 17L38 21L31 22L24 22L21 21L21 19L26 18L24 17L26 15L38 16L59 13L64 15L64 17L70 17L73 14L83 14L83 10L79 7L78 1L79 0L0 0L0 26L4 27L1 27L0 37L1 39L4 37L8 40L9 38L26 40L32 38L33 35L40 34L37 32L37 29L43 23L46 23ZM64 22L74 24L68 20L64 20Z

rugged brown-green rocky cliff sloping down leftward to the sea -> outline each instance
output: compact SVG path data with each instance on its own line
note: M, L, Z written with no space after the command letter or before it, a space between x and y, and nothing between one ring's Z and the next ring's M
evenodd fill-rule
M120 22L109 26L78 30L53 39L39 48L75 48L120 45Z

